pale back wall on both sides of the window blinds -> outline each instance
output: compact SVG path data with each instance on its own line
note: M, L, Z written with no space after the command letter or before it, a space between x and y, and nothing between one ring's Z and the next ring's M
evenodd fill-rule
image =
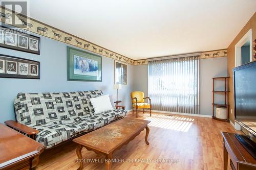
M212 78L227 76L227 57L201 59L200 61L200 111L201 114L212 114ZM147 95L147 65L134 67L134 90L144 91ZM216 83L216 89L222 87L222 82ZM218 102L223 102L220 95L216 95Z

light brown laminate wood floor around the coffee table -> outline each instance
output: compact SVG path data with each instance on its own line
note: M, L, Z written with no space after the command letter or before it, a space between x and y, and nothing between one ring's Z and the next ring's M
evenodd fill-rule
M136 114L130 112L127 116ZM229 123L212 118L160 113L152 117L139 113L139 118L151 120L150 145L145 143L144 130L114 152L112 169L223 169L221 131L241 133ZM37 169L77 169L76 148L77 144L68 142L45 151ZM103 155L83 148L82 156L87 161L83 169L104 169Z

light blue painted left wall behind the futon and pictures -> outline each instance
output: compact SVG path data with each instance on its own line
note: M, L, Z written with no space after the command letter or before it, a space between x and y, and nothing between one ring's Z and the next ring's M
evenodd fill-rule
M35 34L34 34L35 35ZM36 35L38 36L38 35ZM0 123L15 119L13 101L18 92L61 92L102 90L116 96L114 84L114 60L102 56L102 82L67 81L67 44L41 37L40 55L34 55L0 47L0 54L40 61L41 79L0 78ZM74 47L74 46L73 46ZM128 64L128 85L119 90L119 99L126 110L131 109L130 93L133 90L133 65ZM115 97L114 96L114 97Z

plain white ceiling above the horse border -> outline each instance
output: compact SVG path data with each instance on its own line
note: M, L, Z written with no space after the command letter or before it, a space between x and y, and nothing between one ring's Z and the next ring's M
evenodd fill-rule
M132 59L227 48L255 0L36 0L29 16Z

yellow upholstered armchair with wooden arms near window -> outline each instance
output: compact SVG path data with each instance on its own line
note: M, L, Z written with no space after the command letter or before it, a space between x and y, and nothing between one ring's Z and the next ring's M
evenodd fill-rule
M138 117L138 109L142 109L142 112L144 113L144 109L149 109L150 116L151 116L151 99L149 97L144 98L144 92L142 91L133 91L131 92L131 98L132 98L132 105L133 105L133 114L134 109L136 110L136 117ZM145 99L148 99L150 102L145 103Z

